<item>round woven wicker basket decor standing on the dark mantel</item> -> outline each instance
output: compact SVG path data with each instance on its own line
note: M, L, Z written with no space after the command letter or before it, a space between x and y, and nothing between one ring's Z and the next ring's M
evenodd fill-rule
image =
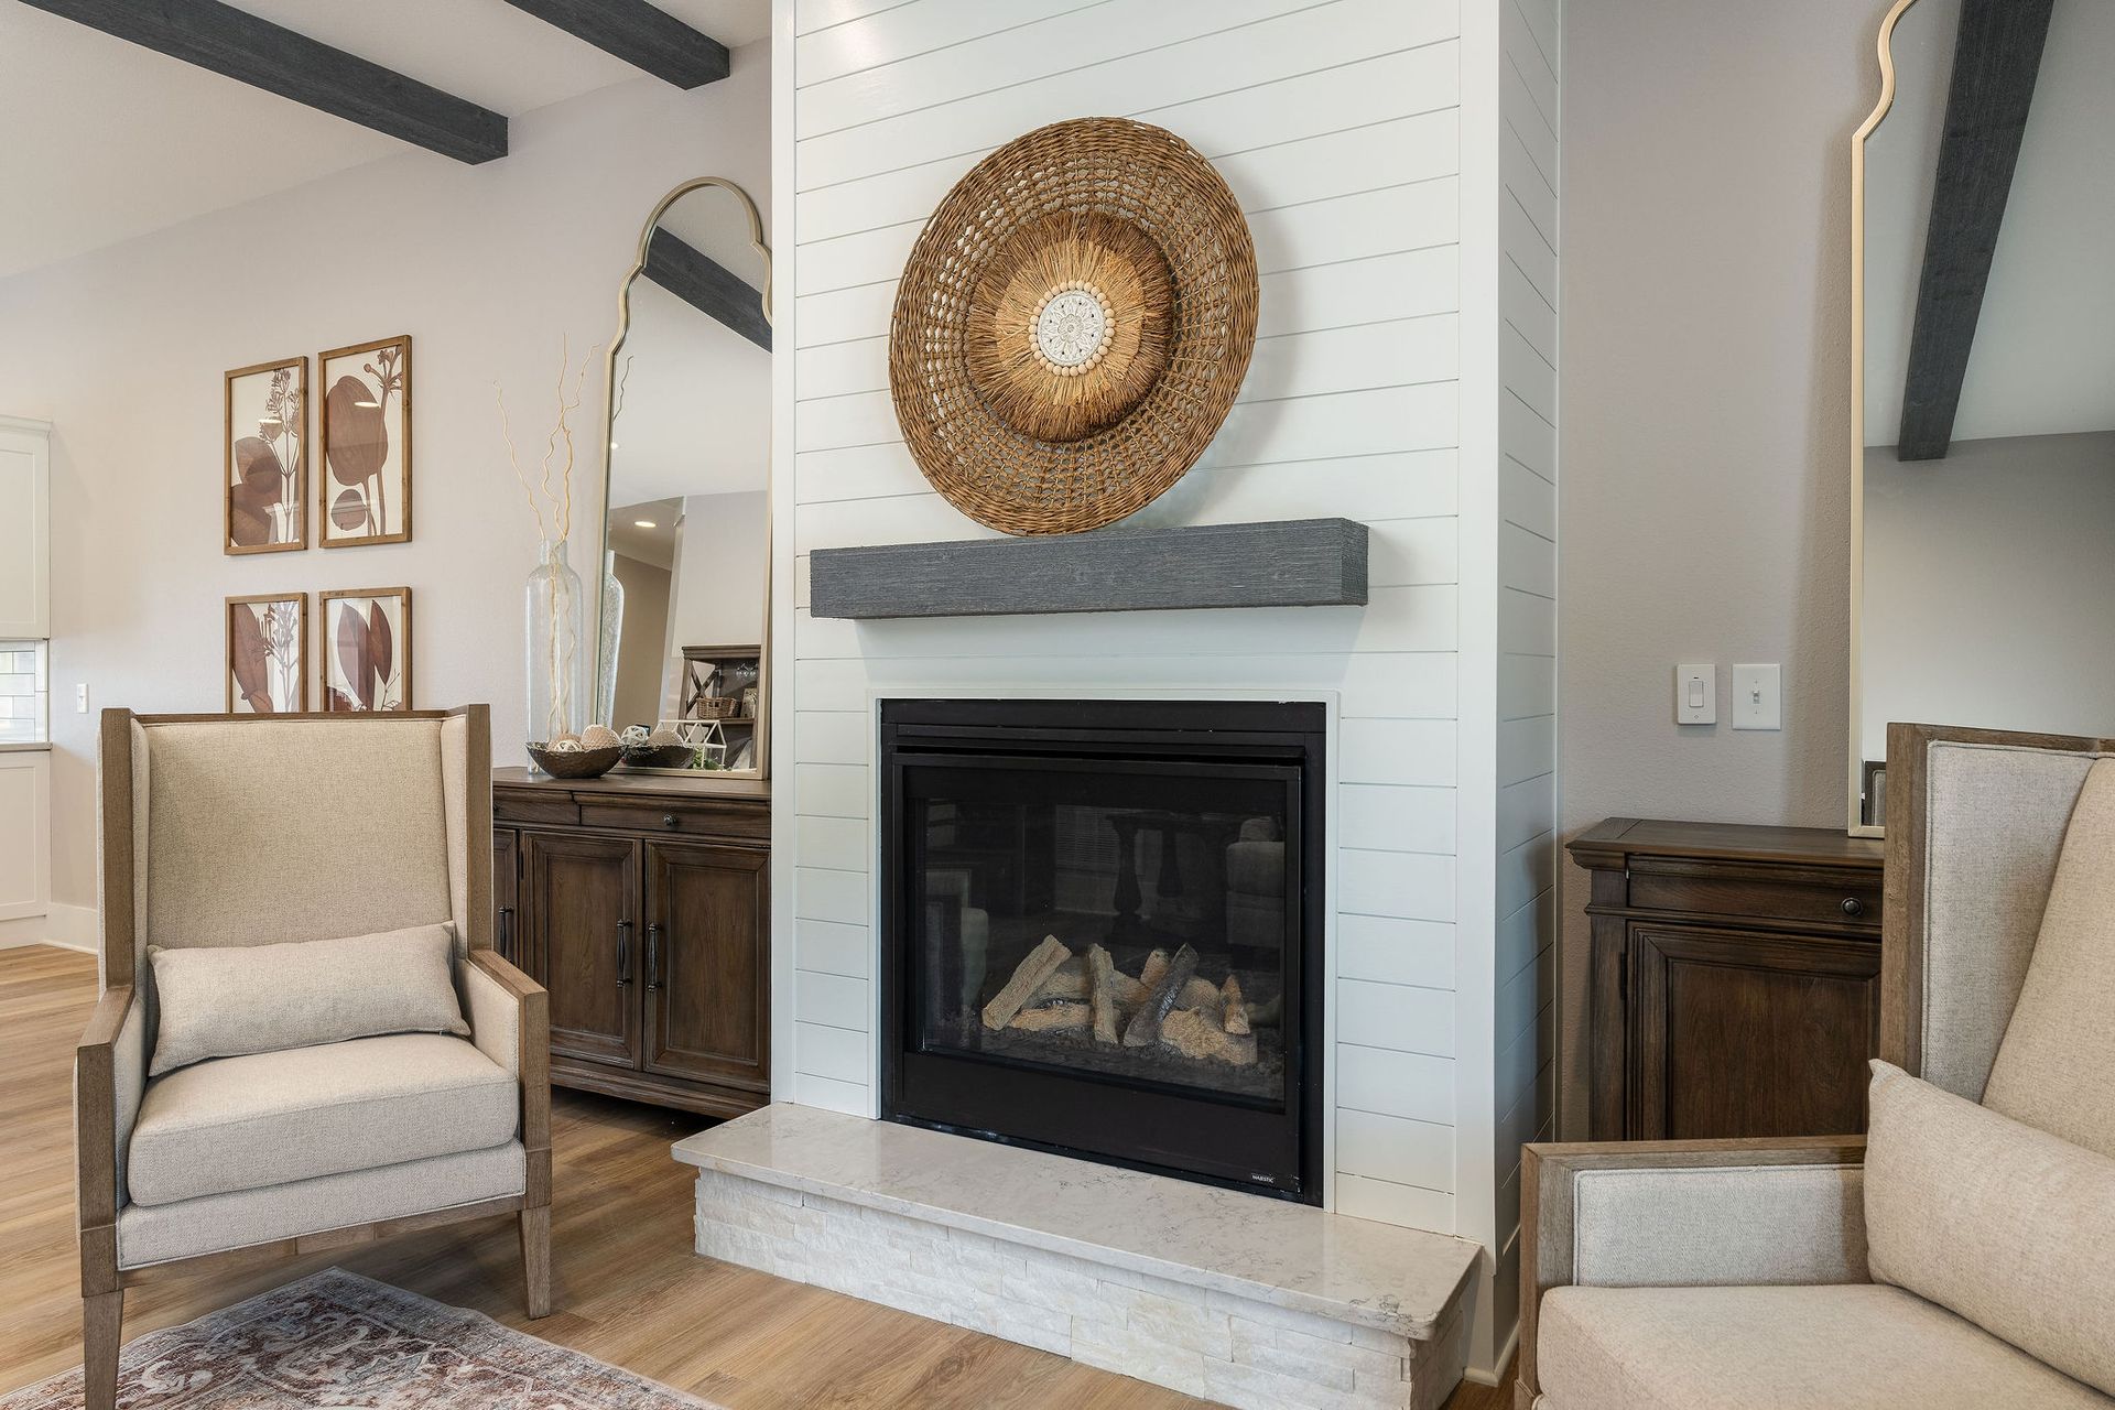
M1015 137L933 211L888 328L897 421L948 503L1005 533L1132 514L1218 433L1256 342L1256 247L1170 131Z

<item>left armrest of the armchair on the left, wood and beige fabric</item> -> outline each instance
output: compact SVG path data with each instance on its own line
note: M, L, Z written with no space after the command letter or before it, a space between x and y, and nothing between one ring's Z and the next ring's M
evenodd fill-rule
M140 1116L144 1089L146 1008L135 1002L131 985L112 985L95 1002L95 1013L74 1044L74 1209L82 1290L106 1277L116 1285L125 1144Z

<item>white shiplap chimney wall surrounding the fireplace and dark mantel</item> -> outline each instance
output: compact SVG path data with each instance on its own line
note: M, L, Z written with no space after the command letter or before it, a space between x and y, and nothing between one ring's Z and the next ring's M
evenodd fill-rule
M1051 13L1028 0L926 0L880 8L797 0L791 76L793 438L778 484L791 484L795 581L812 550L990 537L924 482L888 402L886 334L895 281L926 214L977 159L1043 123L1123 114L1163 125L1206 156L1248 216L1263 271L1263 313L1242 397L1199 465L1134 522L1195 524L1341 514L1373 528L1366 609L1123 613L1015 619L852 624L812 619L795 590L791 744L780 734L780 903L789 915L789 1036L780 1097L871 1114L876 1093L871 738L873 700L890 693L1269 691L1335 698L1332 856L1335 1042L1330 1201L1345 1213L1489 1239L1497 1116L1531 1078L1506 1082L1493 1108L1493 890L1497 769L1497 423L1495 391L1476 469L1464 446L1470 336L1461 154L1470 101L1451 0L1115 0ZM1527 15L1555 11L1525 0ZM1555 42L1555 32L1546 36ZM1478 353L1493 389L1497 345L1500 49L1478 70L1491 123L1487 201L1478 214L1489 266ZM1544 72L1538 82L1550 85ZM1552 146L1544 129L1531 137ZM1525 171L1514 171L1525 180ZM1540 180L1540 178L1538 178ZM1552 190L1527 192L1538 209ZM1546 247L1544 247L1546 254ZM1548 317L1525 336L1548 340ZM780 334L785 334L780 323ZM1483 349L1483 345L1478 345ZM1555 355L1546 347L1542 357ZM1529 366L1508 355L1519 387ZM1550 378L1544 366L1542 381ZM1555 414L1555 408L1546 408ZM1548 431L1542 433L1548 440ZM1525 459L1538 459L1521 448ZM1552 476L1548 454L1538 474ZM1474 657L1487 708L1468 717L1464 636L1472 611L1461 556L1470 493L1489 567L1478 600L1493 630ZM1540 581L1544 624L1506 607L1510 655L1548 641L1548 522L1533 495L1506 514L1542 524L1535 554L1508 548L1521 586ZM1510 535L1508 535L1510 541ZM1523 598L1525 600L1525 598ZM1535 645L1540 641L1540 645ZM1533 674L1533 668L1527 672ZM1542 674L1548 693L1548 672ZM1521 719L1535 687L1508 693ZM1525 702L1525 704L1523 704ZM1546 725L1544 725L1546 729ZM1523 731L1533 734L1533 725ZM1483 816L1457 799L1464 736L1481 740ZM1548 753L1548 750L1544 750ZM1521 769L1531 744L1506 750ZM1506 829L1548 829L1550 763L1519 776ZM1535 776L1544 782L1533 782ZM791 776L791 791L785 780ZM1508 833L1510 835L1510 833ZM1523 835L1525 839L1527 835ZM1489 882L1461 888L1464 856ZM1546 856L1546 848L1542 850ZM1514 850L1519 860L1519 850ZM1514 909L1548 886L1508 882ZM1472 915L1464 917L1461 909ZM1464 924L1457 924L1464 922ZM1506 979L1527 958L1514 960ZM1457 983L1464 975L1470 983ZM1464 1038L1464 1034L1468 1038ZM1508 1027L1516 1044L1521 1029ZM1474 1040L1472 1051L1459 1042ZM1533 1051L1529 1040L1527 1049ZM1466 1061L1459 1061L1466 1059ZM1481 1068L1481 1078L1464 1070ZM1468 1093L1478 1110L1464 1112ZM1457 1127L1474 1158L1457 1152ZM1504 1171L1497 1171L1504 1173ZM1464 1186L1461 1180L1474 1180ZM1510 1309L1504 1313L1510 1321ZM1487 1340L1489 1334L1487 1334Z

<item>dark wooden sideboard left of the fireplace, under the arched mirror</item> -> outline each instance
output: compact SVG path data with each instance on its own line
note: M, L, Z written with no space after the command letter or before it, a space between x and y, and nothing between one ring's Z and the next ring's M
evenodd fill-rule
M772 803L753 780L493 769L493 936L550 989L550 1080L770 1101Z

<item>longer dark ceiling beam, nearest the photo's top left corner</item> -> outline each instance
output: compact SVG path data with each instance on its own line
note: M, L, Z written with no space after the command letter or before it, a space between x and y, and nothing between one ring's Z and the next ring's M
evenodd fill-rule
M27 0L27 4L442 156L480 163L508 154L503 114L220 0Z

